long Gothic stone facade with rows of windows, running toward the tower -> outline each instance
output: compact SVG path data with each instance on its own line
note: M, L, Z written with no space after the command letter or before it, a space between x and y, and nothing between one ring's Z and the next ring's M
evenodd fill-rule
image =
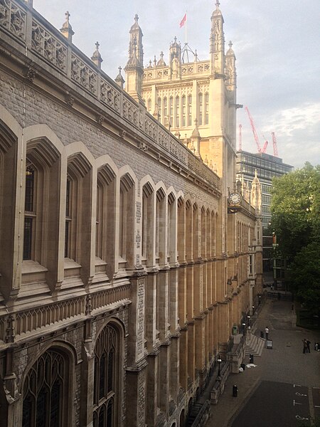
M128 94L72 36L0 0L1 422L181 427L259 292L257 206L228 208L229 133L217 174L130 90L135 59Z

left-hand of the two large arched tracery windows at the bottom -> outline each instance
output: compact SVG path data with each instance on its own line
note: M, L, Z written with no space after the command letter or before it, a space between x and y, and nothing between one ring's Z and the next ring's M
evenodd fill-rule
M22 427L68 426L68 360L56 349L45 352L28 371L23 386Z

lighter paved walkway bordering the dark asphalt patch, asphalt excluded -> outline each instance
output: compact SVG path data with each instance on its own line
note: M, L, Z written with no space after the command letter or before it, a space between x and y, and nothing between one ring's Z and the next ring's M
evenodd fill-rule
M217 405L210 406L210 419L206 427L228 427L244 406L260 381L279 381L302 386L319 387L320 352L314 351L314 342L320 342L319 331L309 331L295 326L292 302L267 300L257 318L256 334L265 327L270 329L272 349L263 349L261 357L255 357L255 368L246 368L239 374L230 374L225 391ZM311 341L311 353L303 354L302 339ZM246 357L245 364L249 363ZM238 397L233 397L233 385L238 386Z

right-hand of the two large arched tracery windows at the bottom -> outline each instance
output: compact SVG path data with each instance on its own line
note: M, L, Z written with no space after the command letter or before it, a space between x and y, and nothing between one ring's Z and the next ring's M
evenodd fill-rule
M95 388L93 427L117 426L117 372L119 371L119 337L107 325L95 344Z

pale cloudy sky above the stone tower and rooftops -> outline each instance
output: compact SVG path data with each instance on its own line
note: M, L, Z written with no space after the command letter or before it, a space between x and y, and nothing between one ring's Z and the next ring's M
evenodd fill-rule
M56 28L70 12L73 43L88 57L100 43L102 70L111 78L128 59L129 29L134 15L144 33L144 65L168 61L174 36L183 45L187 12L187 41L199 60L209 58L210 16L215 0L33 0L33 7ZM220 0L225 46L233 42L237 58L238 126L242 149L257 152L245 113L255 122L260 145L277 138L279 157L295 168L320 164L320 0ZM122 71L124 75L124 71Z

